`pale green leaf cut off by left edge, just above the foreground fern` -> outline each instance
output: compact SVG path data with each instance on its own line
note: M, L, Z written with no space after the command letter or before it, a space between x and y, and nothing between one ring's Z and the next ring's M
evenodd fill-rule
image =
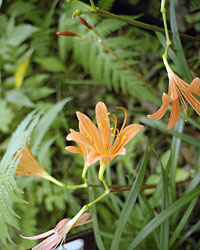
M0 99L0 130L4 133L9 131L9 125L14 118L12 110L7 106L5 100Z

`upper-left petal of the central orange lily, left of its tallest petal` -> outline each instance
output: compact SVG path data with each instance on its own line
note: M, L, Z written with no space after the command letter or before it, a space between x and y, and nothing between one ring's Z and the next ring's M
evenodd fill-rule
M92 142L94 143L94 147L98 152L101 152L101 144L100 144L100 137L97 127L94 123L90 120L87 115L84 115L81 112L76 112L79 122L81 123L81 128L85 131L86 135L90 137Z

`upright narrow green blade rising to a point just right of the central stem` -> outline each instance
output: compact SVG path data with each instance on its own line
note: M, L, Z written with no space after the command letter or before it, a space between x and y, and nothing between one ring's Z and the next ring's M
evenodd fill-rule
M139 191L143 183L146 165L147 165L147 157L148 157L148 147L146 147L146 151L145 151L142 161L139 162L140 164L139 172L129 192L128 198L126 200L126 203L124 204L119 220L117 222L117 226L116 226L116 230L114 233L114 238L112 240L110 250L119 249L121 235L124 231L125 225L129 219L129 215L131 213L131 210L133 209L133 206L135 205L136 199L138 197Z

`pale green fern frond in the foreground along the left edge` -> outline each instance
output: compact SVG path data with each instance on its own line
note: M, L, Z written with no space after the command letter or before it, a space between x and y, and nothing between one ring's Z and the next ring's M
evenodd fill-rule
M33 129L33 124L31 126L29 125L33 120L34 113L35 112L29 114L17 127L16 131L12 135L8 149L0 163L0 240L3 244L6 244L7 240L12 242L7 226L11 225L18 228L17 218L19 218L19 216L12 208L13 203L25 202L21 198L21 194L23 192L20 188L18 188L14 179L15 170L20 160L20 157L17 158L14 155L20 147L24 146L25 136L30 134Z

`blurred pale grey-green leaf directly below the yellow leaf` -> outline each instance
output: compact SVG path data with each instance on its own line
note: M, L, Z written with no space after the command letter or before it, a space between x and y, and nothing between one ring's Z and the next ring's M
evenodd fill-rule
M8 102L29 108L33 108L35 106L34 103L27 97L27 95L24 94L22 89L7 91L6 99Z

